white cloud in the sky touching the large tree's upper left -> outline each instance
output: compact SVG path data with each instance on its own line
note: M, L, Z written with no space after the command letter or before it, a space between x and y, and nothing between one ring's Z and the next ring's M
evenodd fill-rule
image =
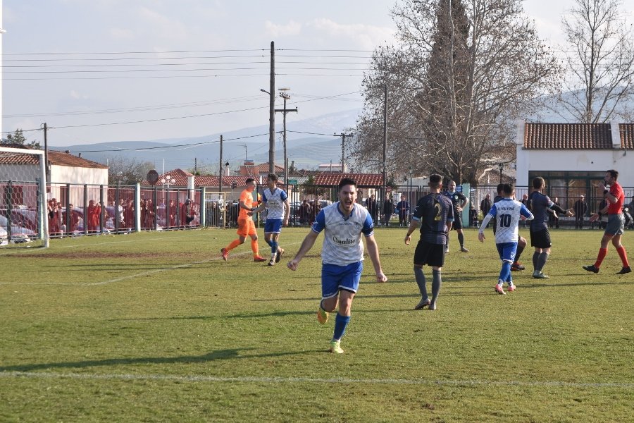
M388 27L378 27L354 23L344 25L330 19L313 19L307 24L313 30L320 32L322 37L327 37L329 42L335 40L348 40L357 47L372 50L379 44L391 42L394 39L394 30Z

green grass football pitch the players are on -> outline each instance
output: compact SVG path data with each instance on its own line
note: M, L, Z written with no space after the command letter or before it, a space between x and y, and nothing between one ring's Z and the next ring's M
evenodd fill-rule
M0 421L633 421L634 273L612 246L581 269L602 231L552 231L549 279L528 247L508 295L492 232L466 230L468 253L454 232L438 309L416 312L418 233L379 228L389 281L366 259L342 355L316 321L323 235L285 266L307 231L282 231L278 266L248 241L223 262L218 229L0 250ZM634 232L623 245L634 262Z

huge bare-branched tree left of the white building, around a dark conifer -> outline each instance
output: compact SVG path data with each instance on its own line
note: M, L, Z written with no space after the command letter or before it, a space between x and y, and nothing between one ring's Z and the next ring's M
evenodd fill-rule
M551 87L554 57L521 0L404 0L392 16L399 45L373 54L352 157L370 168L380 159L387 84L390 171L477 183L513 159L515 120Z

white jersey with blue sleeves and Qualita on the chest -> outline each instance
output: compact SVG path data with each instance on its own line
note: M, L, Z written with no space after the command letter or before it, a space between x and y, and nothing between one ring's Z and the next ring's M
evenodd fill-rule
M317 214L312 230L316 233L324 231L321 261L325 264L347 264L363 260L363 242L361 233L370 236L374 233L372 216L368 210L354 204L352 213L345 219L339 209L339 202L330 204Z

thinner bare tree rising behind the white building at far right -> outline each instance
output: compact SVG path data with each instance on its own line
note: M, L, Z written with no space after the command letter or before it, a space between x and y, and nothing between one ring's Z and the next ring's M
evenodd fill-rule
M562 19L567 45L559 104L578 122L628 115L623 104L634 98L634 36L621 5L620 0L575 0Z

